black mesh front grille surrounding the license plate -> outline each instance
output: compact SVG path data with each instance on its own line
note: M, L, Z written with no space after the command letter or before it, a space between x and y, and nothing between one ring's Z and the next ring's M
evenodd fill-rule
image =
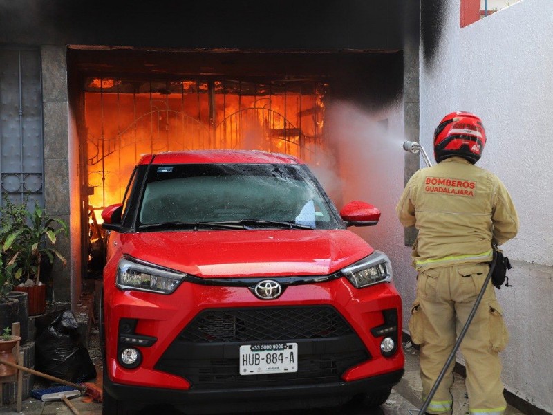
M297 342L298 371L239 374L242 344ZM370 359L366 347L331 306L210 309L199 313L162 355L156 369L187 378L195 389L340 382Z

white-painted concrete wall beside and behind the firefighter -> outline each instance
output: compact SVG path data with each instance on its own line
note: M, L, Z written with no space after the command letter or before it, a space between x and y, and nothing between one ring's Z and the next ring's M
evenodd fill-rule
M459 2L444 5L435 48L423 45L420 59L421 142L431 151L433 129L451 111L484 122L478 165L505 183L521 218L520 233L503 246L514 287L497 291L511 333L503 380L552 412L553 9L548 0L523 0L461 29Z

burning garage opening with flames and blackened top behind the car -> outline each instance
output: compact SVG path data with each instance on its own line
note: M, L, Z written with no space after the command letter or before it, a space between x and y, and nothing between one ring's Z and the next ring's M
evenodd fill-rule
M89 265L102 266L100 212L122 201L142 154L258 149L339 170L326 125L332 102L377 113L401 89L401 63L400 53L70 48ZM336 201L341 190L332 190Z

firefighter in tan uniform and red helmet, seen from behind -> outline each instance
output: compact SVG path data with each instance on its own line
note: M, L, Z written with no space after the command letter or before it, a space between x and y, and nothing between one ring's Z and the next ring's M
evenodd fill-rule
M492 243L501 245L518 232L518 215L505 185L475 165L485 145L480 118L467 112L445 116L434 132L438 164L413 174L396 207L401 223L418 230L412 254L417 295L409 332L413 343L420 345L423 400L484 284ZM460 346L471 414L505 411L498 353L507 340L503 311L489 284ZM427 413L451 414L453 365L454 361Z

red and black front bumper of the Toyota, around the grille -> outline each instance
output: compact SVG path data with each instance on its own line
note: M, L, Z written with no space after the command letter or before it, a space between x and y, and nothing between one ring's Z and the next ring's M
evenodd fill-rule
M163 391L167 396L164 402L174 400L211 400L208 396L247 396L248 399L260 396L283 398L296 394L313 394L314 396L328 396L330 394L353 395L364 393L375 388L385 389L400 380L404 366L404 356L401 345L401 299L393 284L382 283L368 288L356 289L346 278L320 284L290 286L281 297L271 301L257 299L243 287L230 286L203 286L185 282L171 295L157 295L139 291L120 291L114 286L104 286L105 302L105 347L106 362L106 389L114 398L127 400L131 395L140 396L144 400L156 400L161 396L156 391ZM366 358L357 360L350 367L341 367L339 373L332 380L330 378L307 382L259 382L252 386L251 382L238 382L225 385L211 385L207 388L195 385L185 374L178 371L169 371L160 366L164 355L171 347L178 343L182 332L194 321L194 318L203 311L241 308L274 307L315 307L329 306L344 318L355 334L356 342L366 351ZM383 324L382 310L397 310L397 351L393 356L383 356L379 345L382 337L375 337L371 329ZM156 338L151 347L137 347L142 353L142 363L135 369L125 369L117 361L120 319L137 320L136 333ZM274 339L267 339L275 342ZM334 339L336 340L336 339ZM265 342L271 342L265 341ZM297 339L285 337L279 342L295 342ZM261 343L263 340L254 341ZM321 347L317 342L299 340L299 352L319 349L317 353L324 355L327 349L332 349L332 339ZM206 344L214 351L212 358L217 358L219 351L225 351L226 358L238 360L238 344L251 344L250 340L243 342L229 342ZM334 342L339 343L339 342ZM200 344L201 346L201 344ZM184 350L184 349L183 349ZM193 349L188 349L193 350ZM198 349L199 350L199 349ZM178 351L178 349L177 349ZM178 352L177 352L178 354ZM183 353L185 354L185 353ZM236 356L235 356L236 355ZM173 353L173 357L176 353ZM223 356L221 356L223 358ZM161 368L161 369L160 369ZM393 374L393 375L392 375ZM279 376L279 374L270 375ZM384 378L380 378L384 376ZM240 376L238 375L238 378ZM250 377L250 379L252 379ZM377 380L380 379L380 380ZM271 383L274 386L269 387ZM362 386L359 386L362 385ZM131 391L131 392L127 392ZM161 393L161 392L160 392ZM190 396L190 398L187 398ZM148 398L146 398L148 397Z

